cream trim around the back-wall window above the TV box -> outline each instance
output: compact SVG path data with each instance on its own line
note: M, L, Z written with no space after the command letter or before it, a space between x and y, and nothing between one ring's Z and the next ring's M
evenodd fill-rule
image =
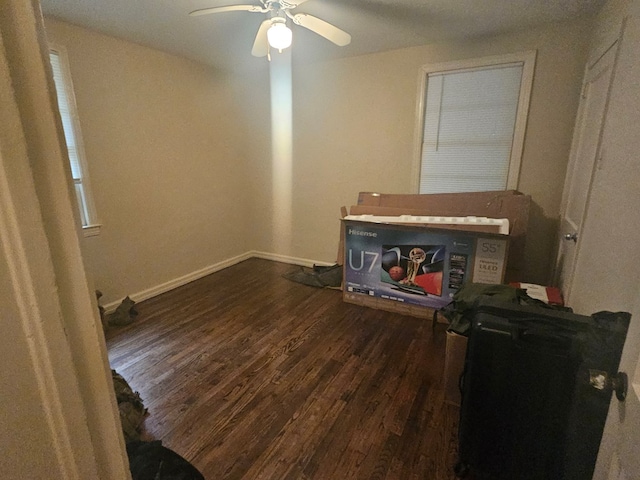
M536 63L536 50L490 55L485 57L454 60L451 62L430 63L423 65L418 73L418 94L416 102L416 121L414 131L414 153L411 165L411 186L414 193L420 193L420 172L422 167L422 135L426 108L426 89L430 74L453 72L456 70L473 70L509 63L522 63L522 81L518 98L518 112L513 131L513 144L507 175L507 190L517 190L520 180L520 167L524 151L524 139L529 116L529 104L533 87L533 76Z

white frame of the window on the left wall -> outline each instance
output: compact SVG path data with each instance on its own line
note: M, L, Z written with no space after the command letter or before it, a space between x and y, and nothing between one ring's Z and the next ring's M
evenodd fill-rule
M93 193L91 189L91 182L89 181L89 167L86 160L86 153L84 149L84 140L82 136L82 129L80 127L80 118L78 116L78 107L76 104L76 96L75 90L73 88L73 79L71 78L71 69L69 66L69 57L67 55L66 49L57 44L49 44L49 61L51 61L51 54L55 54L58 57L58 61L60 64L60 71L62 73L62 81L63 88L65 92L65 96L67 97L68 109L69 109L69 121L71 122L73 128L73 136L75 141L75 150L76 156L78 160L78 167L80 170L80 181L79 183L82 185L83 195L82 198L79 198L78 193L76 192L75 185L78 183L76 179L73 179L74 183L74 195L76 197L76 203L78 204L79 209L84 210L84 217L86 218L87 224L82 225L82 233L85 237L92 237L100 234L100 228L102 225L97 220L96 208L93 201ZM53 68L53 67L52 67ZM56 89L58 85L55 84ZM56 100L57 100L57 92L56 92ZM59 106L58 106L59 112ZM66 147L66 136L65 136L65 147ZM69 154L67 151L67 162L69 162L69 168L71 168L69 158ZM82 215L81 215L82 218Z

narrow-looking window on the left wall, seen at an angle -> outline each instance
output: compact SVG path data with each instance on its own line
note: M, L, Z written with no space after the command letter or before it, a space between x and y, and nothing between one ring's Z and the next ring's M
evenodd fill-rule
M56 85L58 109L69 152L69 164L71 165L71 175L75 185L82 228L85 236L97 235L100 225L96 222L95 209L89 189L80 122L78 121L67 57L63 49L56 47L49 51L49 58Z

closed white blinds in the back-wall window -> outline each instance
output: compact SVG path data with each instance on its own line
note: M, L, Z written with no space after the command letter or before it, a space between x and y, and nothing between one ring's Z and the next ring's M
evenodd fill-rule
M429 73L420 193L507 188L523 63Z

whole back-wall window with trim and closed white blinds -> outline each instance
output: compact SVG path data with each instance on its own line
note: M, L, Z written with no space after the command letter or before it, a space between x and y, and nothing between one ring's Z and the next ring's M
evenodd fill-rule
M423 67L420 193L515 189L535 52Z

